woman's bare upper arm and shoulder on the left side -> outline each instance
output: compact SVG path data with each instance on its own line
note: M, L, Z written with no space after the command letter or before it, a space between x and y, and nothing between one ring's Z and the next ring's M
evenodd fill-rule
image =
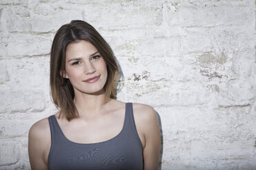
M48 169L47 148L49 146L50 127L47 119L42 119L32 125L28 133L28 155L31 169ZM48 151L49 152L49 151Z

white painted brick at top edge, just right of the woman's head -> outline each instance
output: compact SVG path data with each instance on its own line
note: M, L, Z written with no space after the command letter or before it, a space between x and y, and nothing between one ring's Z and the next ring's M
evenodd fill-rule
M162 23L162 6L160 1L116 1L105 5L100 2L98 5L86 5L85 20L112 29L150 27Z

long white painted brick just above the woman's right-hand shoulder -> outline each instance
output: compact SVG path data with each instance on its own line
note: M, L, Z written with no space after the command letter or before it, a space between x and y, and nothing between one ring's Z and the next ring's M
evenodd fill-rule
M158 86L155 84L158 84ZM211 99L206 98L209 96L210 91L197 83L171 84L169 81L159 81L155 84L153 82L142 83L132 80L125 82L125 88L129 93L133 94L129 96L130 100L136 102L145 101L153 106L207 104Z

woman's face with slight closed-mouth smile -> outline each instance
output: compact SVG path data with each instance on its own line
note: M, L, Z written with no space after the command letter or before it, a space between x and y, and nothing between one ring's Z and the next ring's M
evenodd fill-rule
M103 93L107 81L107 66L96 47L85 40L67 45L64 77L74 87L74 93Z

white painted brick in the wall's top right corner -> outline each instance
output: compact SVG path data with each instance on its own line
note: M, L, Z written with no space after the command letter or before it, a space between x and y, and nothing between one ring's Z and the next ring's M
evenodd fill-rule
M253 6L253 1L250 1ZM200 3L164 3L164 18L170 25L185 27L244 26L253 21L253 8L244 11L246 2L205 1Z

